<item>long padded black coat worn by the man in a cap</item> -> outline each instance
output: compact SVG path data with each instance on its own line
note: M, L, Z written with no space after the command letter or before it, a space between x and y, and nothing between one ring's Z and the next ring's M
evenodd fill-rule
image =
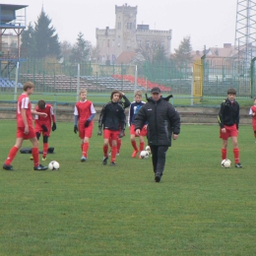
M135 117L135 130L148 122L150 146L170 146L171 134L179 134L180 117L176 109L162 97L155 101L150 97Z

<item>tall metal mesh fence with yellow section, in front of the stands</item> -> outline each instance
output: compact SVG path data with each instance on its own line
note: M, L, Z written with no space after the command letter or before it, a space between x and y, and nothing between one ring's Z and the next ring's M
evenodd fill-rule
M232 87L238 96L253 97L256 95L254 61L252 59L248 67L234 58L203 57L194 64L172 61L136 67L27 60L20 64L19 74L14 67L4 78L2 75L0 91L12 92L18 79L20 86L32 81L36 91L44 93L75 93L78 86L91 92L112 89L132 92L136 84L136 88L146 92L153 86L160 86L166 93L201 98L225 96L226 90Z

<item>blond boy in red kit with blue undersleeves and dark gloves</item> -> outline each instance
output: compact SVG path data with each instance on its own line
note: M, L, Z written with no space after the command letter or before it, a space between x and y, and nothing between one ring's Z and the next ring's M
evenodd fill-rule
M81 138L82 158L81 161L88 159L89 139L92 137L96 109L92 101L87 99L87 90L82 89L79 93L80 100L75 105L74 133L79 131ZM79 128L78 128L79 123Z

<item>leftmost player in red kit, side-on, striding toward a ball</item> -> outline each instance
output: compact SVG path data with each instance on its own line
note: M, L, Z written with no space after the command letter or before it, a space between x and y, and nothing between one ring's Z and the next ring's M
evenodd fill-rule
M33 157L33 169L34 170L45 170L47 167L39 164L39 150L38 141L35 137L35 132L32 127L32 114L38 114L42 116L47 116L46 113L39 113L32 110L32 103L30 101L30 96L33 93L34 85L32 82L27 82L24 84L24 92L19 97L17 103L17 136L16 143L14 147L10 150L7 160L3 165L3 169L13 170L11 165L17 152L23 145L24 140L30 140L32 142L32 157Z

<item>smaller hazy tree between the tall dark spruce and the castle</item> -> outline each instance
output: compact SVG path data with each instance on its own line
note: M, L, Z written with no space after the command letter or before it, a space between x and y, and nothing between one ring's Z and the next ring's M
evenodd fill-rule
M84 34L79 32L77 42L72 49L70 56L71 62L84 63L89 60L92 50L92 44L90 41L84 39Z

